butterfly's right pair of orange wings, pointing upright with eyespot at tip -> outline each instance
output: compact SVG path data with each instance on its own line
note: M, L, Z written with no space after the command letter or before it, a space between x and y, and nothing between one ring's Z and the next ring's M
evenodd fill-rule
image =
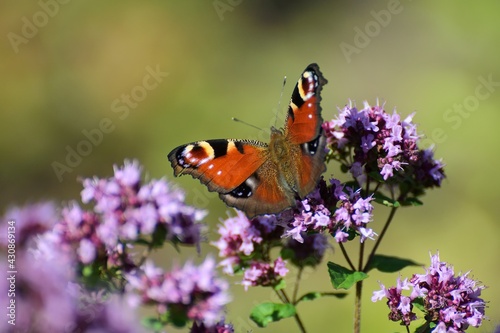
M321 127L321 89L328 81L317 64L311 64L302 73L295 86L285 124L287 142L299 145L295 153L296 191L300 198L308 195L326 170L326 137Z

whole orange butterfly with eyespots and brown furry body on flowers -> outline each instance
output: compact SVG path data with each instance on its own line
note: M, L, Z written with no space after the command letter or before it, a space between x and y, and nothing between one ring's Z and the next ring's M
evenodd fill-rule
M311 193L326 170L321 89L328 81L317 64L302 72L288 106L285 128L271 127L269 143L218 139L181 145L168 154L174 176L188 174L249 218L275 214Z

